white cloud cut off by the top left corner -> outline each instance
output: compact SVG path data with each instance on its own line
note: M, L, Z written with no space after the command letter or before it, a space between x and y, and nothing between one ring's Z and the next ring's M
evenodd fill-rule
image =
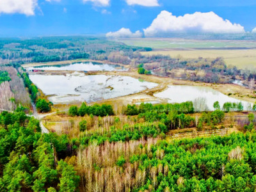
M0 0L0 13L35 15L37 0Z

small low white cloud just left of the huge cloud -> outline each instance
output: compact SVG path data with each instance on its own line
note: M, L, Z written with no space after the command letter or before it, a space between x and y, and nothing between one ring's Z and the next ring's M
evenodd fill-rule
M106 34L108 38L139 38L142 36L140 31L132 33L130 29L121 28L119 31L109 32Z

